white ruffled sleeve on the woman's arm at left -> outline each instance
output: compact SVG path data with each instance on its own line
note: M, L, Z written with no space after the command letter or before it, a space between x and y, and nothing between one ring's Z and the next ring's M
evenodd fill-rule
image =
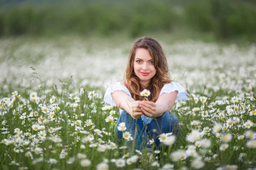
M110 104L111 106L116 106L116 103L114 102L111 93L113 93L114 91L124 91L125 93L127 93L129 96L131 96L130 91L128 90L128 88L125 87L125 85L121 85L120 82L115 82L112 85L108 86L107 91L104 95L104 102Z

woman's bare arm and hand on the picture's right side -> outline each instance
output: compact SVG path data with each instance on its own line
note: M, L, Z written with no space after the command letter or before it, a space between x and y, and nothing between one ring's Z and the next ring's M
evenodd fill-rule
M170 111L177 98L178 91L163 93L157 99L157 102L141 101L140 108L147 117L158 117L164 112Z

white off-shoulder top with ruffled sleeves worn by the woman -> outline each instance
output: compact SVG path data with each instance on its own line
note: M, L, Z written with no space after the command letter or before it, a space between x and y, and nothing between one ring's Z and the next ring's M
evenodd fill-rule
M125 87L125 85L122 85L120 82L115 82L112 85L108 86L107 91L104 95L104 102L112 105L112 106L116 106L116 103L114 102L111 93L113 93L114 91L125 91L125 93L127 93L129 96L131 96L130 91L128 90L128 88ZM162 90L160 91L160 94L163 93L171 93L173 91L178 91L178 95L177 98L178 100L186 100L187 99L187 93L186 90L177 82L171 82L169 84L166 84L163 86ZM159 97L158 96L158 97ZM123 111L122 109L119 109L120 113ZM143 120L143 124L145 125L150 123L152 118L149 118L145 115L141 115L141 119Z

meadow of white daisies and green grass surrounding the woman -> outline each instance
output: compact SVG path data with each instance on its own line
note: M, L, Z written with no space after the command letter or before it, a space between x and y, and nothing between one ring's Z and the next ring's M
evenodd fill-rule
M171 110L179 135L161 134L148 162L125 127L116 143L119 109L103 101L134 40L1 39L0 169L255 170L256 45L157 39L188 99Z

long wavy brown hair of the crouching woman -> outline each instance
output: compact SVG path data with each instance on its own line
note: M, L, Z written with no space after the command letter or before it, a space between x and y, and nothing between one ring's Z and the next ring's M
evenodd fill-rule
M149 54L153 58L153 64L156 69L156 74L151 78L147 87L140 85L140 79L134 72L134 57L137 48L145 48L149 51ZM172 82L168 74L168 64L166 56L159 42L151 37L142 37L137 39L131 47L131 51L128 58L128 64L126 66L124 82L125 86L131 92L131 96L134 100L143 100L143 96L140 96L140 92L146 88L151 92L148 97L149 101L156 102L160 94L163 85Z

